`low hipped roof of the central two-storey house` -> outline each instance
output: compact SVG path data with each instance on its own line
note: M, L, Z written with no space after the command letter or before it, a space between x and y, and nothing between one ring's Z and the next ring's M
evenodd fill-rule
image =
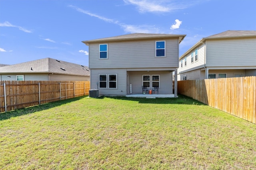
M103 41L125 41L125 40L136 40L136 39L152 39L152 38L172 38L179 37L180 42L184 39L186 35L178 35L178 34L151 34L151 33L132 33L126 35L119 35L115 37L107 37L100 39L93 39L88 41L82 41L86 45L89 43L103 42Z

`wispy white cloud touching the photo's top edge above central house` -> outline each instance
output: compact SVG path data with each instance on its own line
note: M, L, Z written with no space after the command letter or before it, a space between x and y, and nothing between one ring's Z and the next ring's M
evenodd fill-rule
M169 12L172 10L164 5L159 5L159 1L155 3L152 0L124 0L124 2L138 6L140 12Z

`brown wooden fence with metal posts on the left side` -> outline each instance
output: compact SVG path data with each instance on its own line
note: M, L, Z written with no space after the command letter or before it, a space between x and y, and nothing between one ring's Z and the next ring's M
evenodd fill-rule
M0 112L88 95L88 81L0 81Z

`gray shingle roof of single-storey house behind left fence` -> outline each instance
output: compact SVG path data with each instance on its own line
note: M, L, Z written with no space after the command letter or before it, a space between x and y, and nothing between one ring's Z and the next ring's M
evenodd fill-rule
M3 66L0 67L0 74L2 73L55 73L90 76L90 70L88 66L68 63L51 58Z

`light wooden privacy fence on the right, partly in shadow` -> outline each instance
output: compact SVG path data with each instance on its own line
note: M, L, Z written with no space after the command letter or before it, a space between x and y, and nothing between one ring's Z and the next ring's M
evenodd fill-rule
M178 93L256 123L256 76L178 81Z

